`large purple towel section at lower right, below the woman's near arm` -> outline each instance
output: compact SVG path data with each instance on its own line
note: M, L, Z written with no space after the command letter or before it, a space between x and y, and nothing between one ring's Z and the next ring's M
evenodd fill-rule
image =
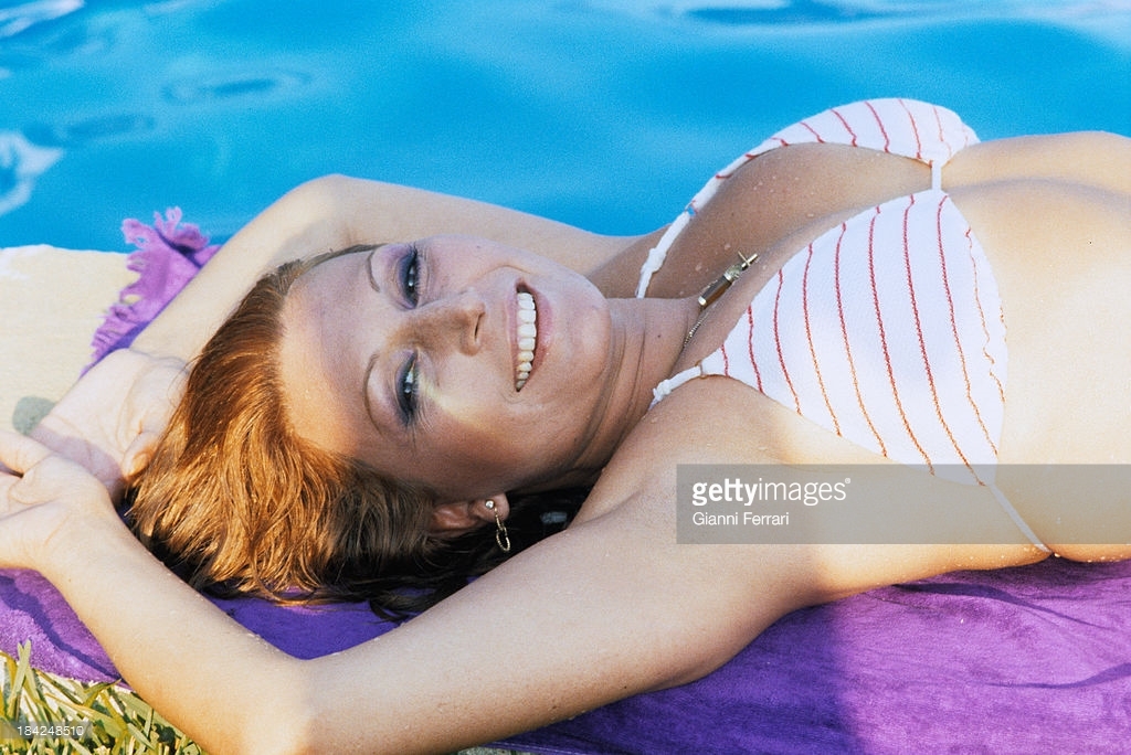
M1128 562L959 572L795 611L703 679L511 741L590 754L1126 753L1129 618Z

